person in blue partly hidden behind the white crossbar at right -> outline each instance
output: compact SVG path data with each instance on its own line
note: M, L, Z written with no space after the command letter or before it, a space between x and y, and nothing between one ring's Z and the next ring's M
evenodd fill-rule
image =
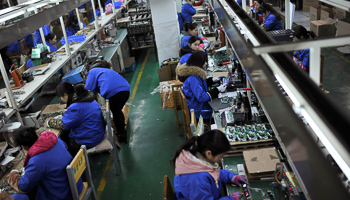
M315 38L316 35L313 32L307 31L304 26L298 25L293 29L293 41L305 41L311 38ZM310 66L310 49L302 49L294 52L294 62L301 67L304 71L309 73Z

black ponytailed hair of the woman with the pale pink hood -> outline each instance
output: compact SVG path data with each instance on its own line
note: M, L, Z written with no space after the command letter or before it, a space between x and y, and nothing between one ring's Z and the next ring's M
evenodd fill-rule
M210 150L213 156L217 156L230 149L231 145L225 134L219 130L211 130L203 133L201 136L193 136L179 146L171 162L175 167L176 158L179 157L182 150L190 151L192 155L200 153L205 157L204 154L207 150Z

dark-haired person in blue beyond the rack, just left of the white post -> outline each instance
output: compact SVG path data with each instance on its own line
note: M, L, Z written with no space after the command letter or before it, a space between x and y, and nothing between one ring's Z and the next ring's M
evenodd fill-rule
M273 12L273 13L272 13ZM263 3L259 6L258 13L264 19L261 27L266 31L282 30L281 15L272 8L270 4Z

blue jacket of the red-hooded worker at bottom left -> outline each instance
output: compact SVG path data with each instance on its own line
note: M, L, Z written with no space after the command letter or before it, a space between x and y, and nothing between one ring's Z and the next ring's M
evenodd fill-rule
M43 153L31 157L25 167L24 175L19 179L18 186L23 192L30 192L38 186L35 199L72 199L66 172L72 156L65 143L57 139L56 145ZM83 189L83 183L78 181L78 191Z

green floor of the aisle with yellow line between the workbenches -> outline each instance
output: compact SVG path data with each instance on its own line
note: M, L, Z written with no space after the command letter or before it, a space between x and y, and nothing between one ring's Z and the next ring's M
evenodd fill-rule
M136 70L126 74L131 90L135 87L146 53L147 50L139 52ZM121 175L115 175L112 165L106 174L106 186L102 193L98 188L110 155L91 156L93 180L100 199L161 199L164 175L169 175L173 180L174 170L169 160L184 142L184 137L177 134L174 111L163 111L159 93L150 94L159 85L158 67L152 49L133 99L135 107L130 109L128 143L122 144L119 152Z

